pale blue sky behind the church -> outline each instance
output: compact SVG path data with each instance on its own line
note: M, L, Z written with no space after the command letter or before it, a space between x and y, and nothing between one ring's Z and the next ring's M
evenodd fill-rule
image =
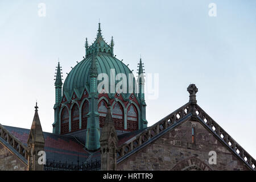
M46 4L46 17L38 4ZM217 16L208 16L209 3ZM96 37L98 19L114 54L159 73L159 98L147 100L149 125L197 103L256 158L256 1L0 1L0 123L30 128L38 100L44 131L52 131L54 75L63 77Z

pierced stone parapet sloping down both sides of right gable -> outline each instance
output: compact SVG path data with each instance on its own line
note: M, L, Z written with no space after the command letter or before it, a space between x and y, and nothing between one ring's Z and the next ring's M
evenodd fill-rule
M209 131L217 137L221 142L229 148L243 163L245 163L251 170L256 169L256 160L248 154L241 146L234 140L221 126L219 126L199 105L194 105L196 109L196 118ZM133 155L135 152L141 150L143 147L154 142L156 139L166 134L168 131L174 129L181 123L188 121L193 117L193 106L191 102L181 106L167 117L161 119L146 130L135 135L127 140L117 149L117 163Z

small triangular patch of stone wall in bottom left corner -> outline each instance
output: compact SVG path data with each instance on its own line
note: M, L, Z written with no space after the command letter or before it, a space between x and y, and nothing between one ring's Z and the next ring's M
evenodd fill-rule
M27 170L24 164L17 156L9 151L8 148L0 143L0 171L24 171Z

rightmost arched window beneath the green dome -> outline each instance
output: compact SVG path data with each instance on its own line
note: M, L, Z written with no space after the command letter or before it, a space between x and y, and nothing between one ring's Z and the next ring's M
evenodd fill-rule
M138 130L138 111L134 105L130 105L127 110L127 130Z

